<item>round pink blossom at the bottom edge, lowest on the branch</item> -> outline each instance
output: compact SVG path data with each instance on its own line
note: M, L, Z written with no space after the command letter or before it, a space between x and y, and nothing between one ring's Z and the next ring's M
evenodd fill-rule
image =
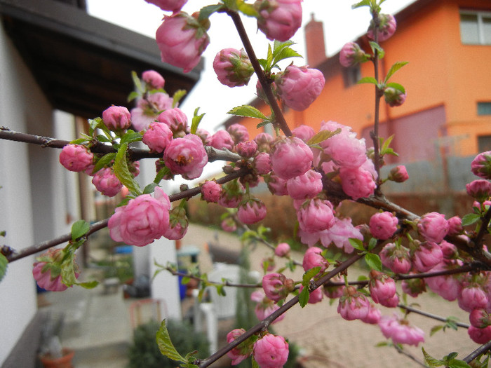
M282 336L265 334L254 343L254 359L260 368L280 368L288 360L288 343Z

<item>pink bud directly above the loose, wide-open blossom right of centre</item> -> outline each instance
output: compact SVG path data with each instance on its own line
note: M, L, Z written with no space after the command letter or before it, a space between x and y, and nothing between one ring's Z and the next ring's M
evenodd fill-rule
M332 204L328 200L307 200L299 210L297 219L300 229L308 233L329 229L335 224Z

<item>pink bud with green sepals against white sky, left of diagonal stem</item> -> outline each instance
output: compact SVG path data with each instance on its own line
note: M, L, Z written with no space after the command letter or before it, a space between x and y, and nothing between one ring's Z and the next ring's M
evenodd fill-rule
M235 48L224 48L217 53L213 69L220 83L229 87L247 86L254 74L253 64L245 50Z

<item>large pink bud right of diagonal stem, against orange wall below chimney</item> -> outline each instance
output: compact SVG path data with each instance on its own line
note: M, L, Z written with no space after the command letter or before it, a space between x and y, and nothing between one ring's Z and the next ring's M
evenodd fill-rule
M295 111L304 111L321 94L325 79L318 69L290 65L276 76L275 83L278 96L286 106Z

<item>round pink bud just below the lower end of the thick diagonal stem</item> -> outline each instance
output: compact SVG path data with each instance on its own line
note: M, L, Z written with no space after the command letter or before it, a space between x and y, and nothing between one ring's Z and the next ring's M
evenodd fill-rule
M307 172L311 168L314 155L302 139L288 137L273 146L270 158L275 174L288 180Z

